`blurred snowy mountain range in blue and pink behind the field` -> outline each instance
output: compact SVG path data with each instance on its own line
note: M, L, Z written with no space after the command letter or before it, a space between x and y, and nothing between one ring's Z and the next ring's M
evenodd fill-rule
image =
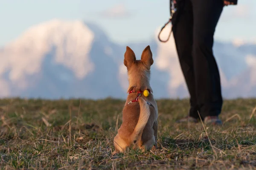
M163 38L168 31L163 31ZM127 45L137 58L151 46L151 86L156 98L188 96L173 37L166 43L155 38ZM92 23L51 20L33 26L0 49L0 97L124 99L125 49ZM215 42L213 49L223 96L256 97L256 45Z

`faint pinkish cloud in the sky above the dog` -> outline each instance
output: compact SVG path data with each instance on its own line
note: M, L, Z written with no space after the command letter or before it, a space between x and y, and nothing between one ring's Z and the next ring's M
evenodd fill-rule
M125 8L124 4L118 4L100 13L102 17L108 18L123 18L130 17L131 13Z

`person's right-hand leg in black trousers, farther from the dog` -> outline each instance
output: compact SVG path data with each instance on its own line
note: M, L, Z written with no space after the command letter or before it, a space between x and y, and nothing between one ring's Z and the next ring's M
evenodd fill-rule
M222 0L191 0L196 99L200 116L218 116L222 108L221 80L212 52L215 27L223 9ZM209 118L209 117L208 117Z

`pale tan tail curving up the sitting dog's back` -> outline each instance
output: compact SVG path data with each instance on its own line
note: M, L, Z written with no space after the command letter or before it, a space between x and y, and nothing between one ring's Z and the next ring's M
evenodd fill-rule
M138 101L140 103L140 116L139 116L137 125L135 126L134 131L131 134L131 140L133 143L137 142L137 140L138 140L139 136L142 134L144 127L147 124L148 118L150 116L149 105L147 104L145 99L143 99L142 97L139 97Z

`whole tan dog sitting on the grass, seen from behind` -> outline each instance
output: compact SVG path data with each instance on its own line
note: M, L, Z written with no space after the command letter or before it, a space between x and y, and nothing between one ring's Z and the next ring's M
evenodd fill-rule
M122 125L114 137L115 152L133 149L150 150L157 147L157 103L149 84L152 52L148 45L137 60L128 46L124 55L124 65L128 71L128 97L122 114Z

